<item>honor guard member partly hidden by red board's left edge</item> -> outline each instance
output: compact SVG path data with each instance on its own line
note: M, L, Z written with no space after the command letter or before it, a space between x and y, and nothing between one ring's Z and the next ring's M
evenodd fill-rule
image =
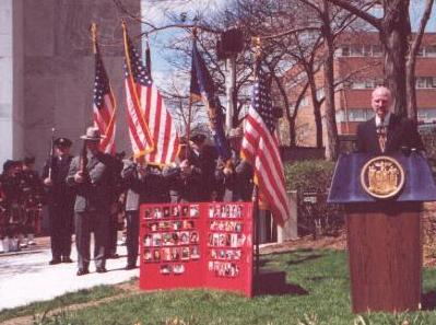
M158 167L146 165L144 158L123 160L121 177L127 186L126 198L126 269L137 267L139 247L139 208L148 202L168 202L165 179Z

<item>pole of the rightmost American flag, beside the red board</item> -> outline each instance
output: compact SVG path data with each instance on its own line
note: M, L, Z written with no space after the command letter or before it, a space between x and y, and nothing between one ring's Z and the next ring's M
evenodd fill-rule
M255 80L257 79L258 66L260 65L261 47L260 37L254 37L252 43L255 45ZM259 213L259 186L257 182L254 182L255 186L252 188L252 213L255 222L255 279L259 280L260 274L260 213Z

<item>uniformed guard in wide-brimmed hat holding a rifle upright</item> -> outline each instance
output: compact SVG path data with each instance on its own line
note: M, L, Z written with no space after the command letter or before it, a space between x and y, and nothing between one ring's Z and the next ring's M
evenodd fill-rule
M75 190L74 228L78 249L78 276L90 272L90 242L94 232L94 263L97 272L106 272L109 207L111 202L111 169L114 158L99 151L104 137L99 130L89 127L83 139L80 156L73 158L67 183Z

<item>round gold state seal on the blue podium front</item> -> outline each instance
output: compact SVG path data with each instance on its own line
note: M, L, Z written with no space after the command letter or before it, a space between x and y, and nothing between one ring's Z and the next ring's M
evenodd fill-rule
M400 163L386 155L369 160L361 171L362 187L379 199L396 196L403 188L404 178L404 170Z

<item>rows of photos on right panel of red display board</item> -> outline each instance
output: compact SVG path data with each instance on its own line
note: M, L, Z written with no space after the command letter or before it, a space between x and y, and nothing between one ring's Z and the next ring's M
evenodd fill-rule
M208 222L208 269L217 277L237 277L244 255L244 206L211 204Z

